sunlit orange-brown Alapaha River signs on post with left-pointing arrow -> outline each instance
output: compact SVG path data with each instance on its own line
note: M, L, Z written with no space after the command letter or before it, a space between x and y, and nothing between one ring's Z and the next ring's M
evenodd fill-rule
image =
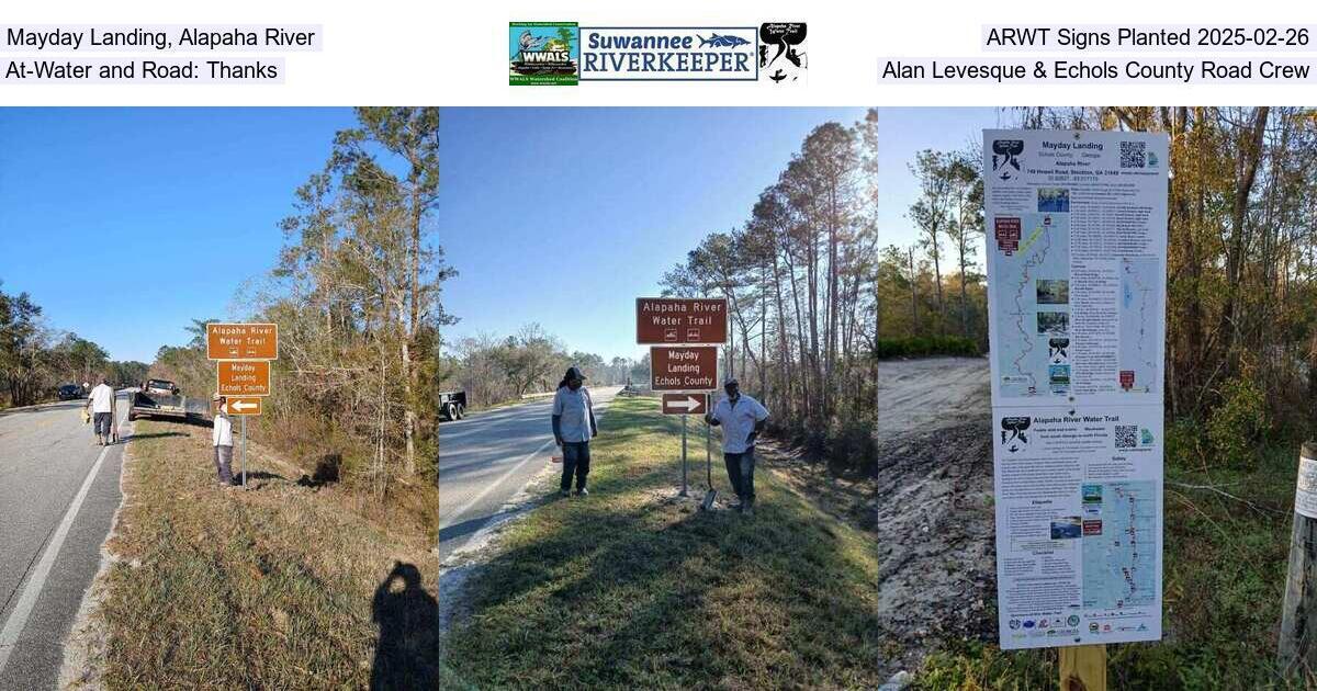
M279 359L278 324L205 325L205 357L215 362L215 392L224 412L242 420L242 488L246 490L246 419L261 415L270 395L270 361Z

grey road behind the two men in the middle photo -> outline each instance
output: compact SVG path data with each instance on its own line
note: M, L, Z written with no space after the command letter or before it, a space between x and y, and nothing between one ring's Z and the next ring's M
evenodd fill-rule
M590 387L598 421L622 387ZM553 399L439 425L439 558L443 562L498 516L557 453Z

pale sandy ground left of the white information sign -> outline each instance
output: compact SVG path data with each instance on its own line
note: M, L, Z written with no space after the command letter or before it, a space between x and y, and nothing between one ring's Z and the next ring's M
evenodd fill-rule
M994 630L990 397L986 358L878 365L878 601L905 669L944 640Z

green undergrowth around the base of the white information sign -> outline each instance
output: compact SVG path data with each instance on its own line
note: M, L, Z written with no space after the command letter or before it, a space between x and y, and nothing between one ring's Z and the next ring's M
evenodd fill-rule
M1295 442L1262 450L1250 469L1204 469L1196 454L1168 455L1164 636L1158 644L1108 646L1113 688L1291 687L1275 659L1297 455ZM1216 486L1239 500L1175 483ZM988 616L996 620L994 611ZM1056 677L1054 650L959 641L925 662L919 686L1056 688Z

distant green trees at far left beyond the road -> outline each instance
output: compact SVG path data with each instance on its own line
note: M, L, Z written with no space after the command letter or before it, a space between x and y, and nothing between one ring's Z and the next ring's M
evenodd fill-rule
M0 408L51 400L62 384L133 386L146 376L146 363L113 361L100 345L76 333L51 328L26 292L0 290Z

